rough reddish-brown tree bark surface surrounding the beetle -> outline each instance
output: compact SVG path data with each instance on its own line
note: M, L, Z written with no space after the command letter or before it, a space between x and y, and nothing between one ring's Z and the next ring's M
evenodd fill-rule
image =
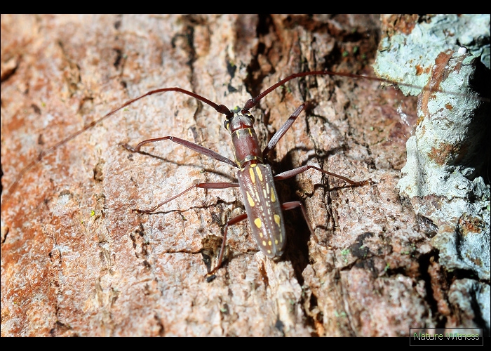
M279 263L243 222L216 279L204 279L224 223L243 213L238 189L132 211L194 181L235 179L231 166L169 141L145 148L155 157L121 147L175 135L233 158L224 117L179 93L77 136L4 200L39 152L130 98L179 86L232 109L295 72L370 74L377 30L376 16L3 15L2 336L405 336L457 320L432 228L396 189L411 132L396 112L403 97L371 81L295 79L251 110L265 146L308 102L271 153L276 173L320 164L376 182L348 187L312 170L281 182L282 201L304 202L315 235L300 211L286 213Z

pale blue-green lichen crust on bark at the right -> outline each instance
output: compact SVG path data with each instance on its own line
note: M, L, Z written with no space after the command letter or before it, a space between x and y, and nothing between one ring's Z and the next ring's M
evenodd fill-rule
M483 178L490 157L489 28L489 15L436 15L410 32L384 38L376 65L386 79L406 77L408 84L438 90L421 92L398 187L417 215L436 226L431 244L439 263L448 272L476 277L474 284L457 279L450 291L467 291L467 303L461 296L455 309L474 316L474 322L464 318L462 324L484 327L485 333L490 331L490 185ZM469 48L457 51L456 44Z

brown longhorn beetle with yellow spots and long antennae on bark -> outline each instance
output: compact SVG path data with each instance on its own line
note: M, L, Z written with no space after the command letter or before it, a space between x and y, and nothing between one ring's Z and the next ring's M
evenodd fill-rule
M212 157L214 159L217 159L218 161L222 161L224 163L227 163L231 166L238 168L238 172L237 172L238 183L198 183L192 185L191 187L188 187L183 192L180 192L180 194L177 194L174 197L171 197L170 199L167 199L166 201L157 204L153 208L147 210L135 209L133 211L140 214L152 213L156 211L156 209L159 208L160 206L163 206L163 204L166 204L169 201L172 201L173 199L177 199L178 197L182 196L186 192L189 192L191 189L194 189L196 187L203 188L203 189L224 189L229 187L240 187L244 199L243 202L245 206L245 213L240 216L231 218L224 226L224 237L222 240L220 254L217 259L217 265L213 268L213 270L211 270L207 274L208 277L211 277L213 273L216 272L216 270L222 264L228 227L236 223L239 223L242 220L245 220L245 218L249 218L250 227L253 230L253 237L255 237L255 240L257 241L257 245L260 247L261 251L263 251L263 253L269 258L277 260L278 258L281 257L285 249L285 229L284 229L283 215L281 210L290 210L292 208L300 207L302 211L302 215L307 221L307 225L309 227L310 232L313 233L314 230L309 223L305 208L300 201L291 201L291 202L286 202L284 204L279 204L278 194L274 187L274 180L284 180L287 178L292 178L312 168L315 169L316 171L320 171L321 173L340 178L345 182L349 183L351 186L368 185L372 183L372 180L370 179L356 182L348 178L345 178L344 176L339 176L335 173L330 173L328 171L324 171L319 167L311 166L311 165L300 166L290 171L285 171L283 173L279 173L276 176L273 176L273 173L271 172L271 167L268 164L264 163L264 159L267 156L267 154L269 154L269 152L271 152L271 150L274 149L278 141L288 131L290 126L292 126L295 119L297 119L297 117L304 109L305 104L302 104L299 107L297 107L297 110L295 110L295 112L291 114L290 118L288 118L288 120L285 121L283 126L281 126L281 128L279 128L279 130L273 135L271 140L269 140L267 147L264 150L262 150L262 152L260 151L259 144L257 141L257 135L253 128L254 117L252 114L250 114L250 109L255 107L258 104L258 102L260 102L260 100L264 98L264 96L271 93L271 91L274 91L276 88L282 86L286 82L299 77L307 77L307 76L314 76L314 75L333 75L333 76L351 77L355 79L369 79L373 81L380 81L388 84L394 84L394 81L390 81L388 79L367 77L367 76L342 73L342 72L330 72L330 71L300 72L297 74L292 74L286 77L285 79L278 81L276 84L270 86L265 91L257 95L255 98L248 100L239 112L231 112L231 110L229 110L229 108L225 107L224 105L217 105L215 102L210 101L201 95L198 95L191 91L184 90L182 88L177 88L177 87L160 88L153 91L149 91L133 100L129 100L128 102L125 102L123 105L117 107L115 110L112 110L111 112L105 114L103 117L100 117L99 119L95 119L90 124L81 128L81 130L77 131L76 133L73 133L72 135L69 135L67 138L61 140L60 142L56 143L52 147L41 152L41 154L39 154L39 157L37 159L32 161L30 164L28 164L20 172L18 178L16 178L14 183L9 188L8 193L5 195L2 201L2 207L4 206L4 204L6 204L9 197L11 197L11 195L13 194L15 188L18 186L18 183L20 182L20 179L22 179L22 177L32 167L34 167L37 163L39 163L39 161L47 154L51 154L52 152L57 150L60 146L67 143L69 140L76 138L77 135L80 135L84 131L87 131L89 128L92 128L96 124L99 124L100 122L104 121L108 117L112 116L112 114L115 114L119 110L122 110L128 105L133 104L133 102L136 102L137 100L145 98L149 95L154 95L156 93L175 91L177 93L183 93L193 98L196 98L197 100L200 100L201 102L210 105L220 114L225 115L224 127L227 128L227 130L231 134L232 143L234 145L234 150L235 150L235 161L232 161L231 159L228 159L227 157L224 157L218 154L217 152L214 152L213 150L210 150L206 147L202 147L200 145L190 143L187 140L182 140L174 136L165 136L162 138L144 140L141 143L137 144L135 147L130 147L129 145L123 145L123 147L125 147L130 152L140 152L140 148L149 143L156 143L157 141L162 141L162 140L171 140L174 143L183 145L184 147L194 150L195 152L199 152L208 157ZM403 86L415 87L410 84L401 84L401 83L398 84Z

